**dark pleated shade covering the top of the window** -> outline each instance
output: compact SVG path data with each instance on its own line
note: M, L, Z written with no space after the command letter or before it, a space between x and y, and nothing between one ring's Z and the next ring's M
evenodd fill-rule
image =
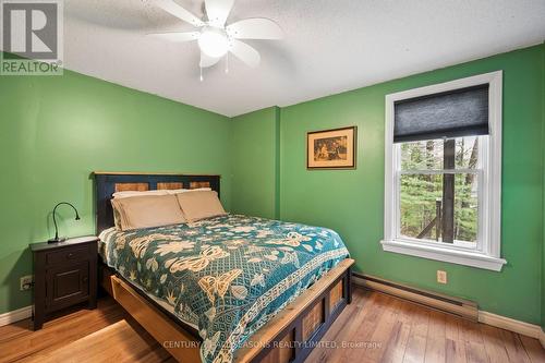
M393 142L488 134L488 84L396 101Z

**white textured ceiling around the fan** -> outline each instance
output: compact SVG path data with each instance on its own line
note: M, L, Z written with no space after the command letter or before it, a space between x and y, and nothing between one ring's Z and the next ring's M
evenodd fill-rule
M203 0L177 0L198 16ZM288 106L542 43L545 0L238 0L228 20L269 17L286 39L249 41L198 80L196 43L147 33L191 25L152 0L65 0L65 66L229 117Z

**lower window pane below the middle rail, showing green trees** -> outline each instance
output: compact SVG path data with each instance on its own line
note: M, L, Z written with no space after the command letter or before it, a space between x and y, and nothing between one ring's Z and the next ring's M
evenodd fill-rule
M402 235L476 247L477 174L402 174L400 192Z

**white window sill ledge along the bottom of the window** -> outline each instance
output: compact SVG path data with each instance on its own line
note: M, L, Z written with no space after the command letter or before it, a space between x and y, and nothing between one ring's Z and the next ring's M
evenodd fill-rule
M500 271L501 267L507 264L507 261L504 258L484 255L479 252L437 247L404 241L382 241L380 243L383 244L383 250L387 252L437 259L451 264L491 269L494 271Z

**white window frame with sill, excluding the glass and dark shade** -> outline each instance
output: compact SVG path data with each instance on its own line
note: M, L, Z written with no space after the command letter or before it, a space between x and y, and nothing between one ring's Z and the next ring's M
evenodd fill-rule
M393 143L396 101L488 84L488 136L479 148L479 233L477 247L469 250L451 244L411 239L400 234L401 147ZM384 251L500 271L507 261L501 246L501 99L502 72L491 72L386 96L385 132L385 215Z

